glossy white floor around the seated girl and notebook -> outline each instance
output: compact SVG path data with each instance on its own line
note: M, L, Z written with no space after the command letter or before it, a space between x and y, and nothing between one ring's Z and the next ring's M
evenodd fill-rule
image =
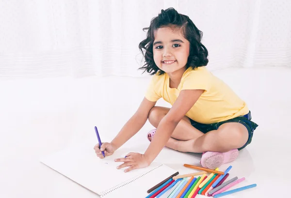
M291 184L291 69L213 73L248 103L253 121L259 124L239 158L221 167L232 165L229 178L246 178L238 186L258 186L228 197L286 197ZM102 141L110 141L139 106L148 82L148 77L0 81L0 198L98 197L43 165L39 158L96 139L95 125ZM158 105L170 107L162 101ZM150 129L147 122L127 144L146 148ZM183 168L186 161L199 165L199 154L175 152L176 158L168 158L169 152L165 149L157 160L182 174L191 172Z

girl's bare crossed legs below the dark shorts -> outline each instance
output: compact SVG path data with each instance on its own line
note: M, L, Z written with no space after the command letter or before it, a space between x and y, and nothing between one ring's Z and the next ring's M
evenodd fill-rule
M149 122L158 127L159 122L169 111L166 107L153 107L149 113ZM184 117L177 125L166 146L181 152L227 152L242 147L248 139L248 131L238 122L222 124L218 130L206 134L191 125ZM174 139L175 138L175 139Z

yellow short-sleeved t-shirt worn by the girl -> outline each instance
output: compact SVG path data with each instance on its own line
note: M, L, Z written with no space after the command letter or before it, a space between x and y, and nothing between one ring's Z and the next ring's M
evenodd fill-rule
M188 118L205 124L226 121L249 112L245 102L205 66L194 70L189 67L177 89L170 88L169 82L166 73L154 75L146 91L146 99L156 102L163 98L173 105L182 90L205 90L186 114Z

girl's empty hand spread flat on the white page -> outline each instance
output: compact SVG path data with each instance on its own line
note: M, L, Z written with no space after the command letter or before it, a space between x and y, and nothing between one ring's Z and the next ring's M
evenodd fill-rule
M146 156L144 154L129 152L129 154L126 156L127 157L125 158L118 158L114 160L115 162L124 162L122 165L119 165L117 169L129 167L124 170L124 172L129 172L130 170L145 168L150 165L150 163L147 162Z

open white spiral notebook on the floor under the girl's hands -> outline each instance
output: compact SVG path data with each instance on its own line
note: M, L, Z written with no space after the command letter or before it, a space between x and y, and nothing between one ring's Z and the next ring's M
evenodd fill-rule
M125 173L116 169L129 149L120 149L113 155L99 159L92 145L79 145L43 157L40 161L72 181L95 192L101 198L145 198L146 191L177 171L153 162L149 167Z

